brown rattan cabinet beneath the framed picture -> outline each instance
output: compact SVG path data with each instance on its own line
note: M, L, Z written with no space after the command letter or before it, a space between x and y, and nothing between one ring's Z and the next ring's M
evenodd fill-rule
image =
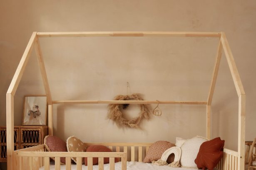
M14 149L41 145L47 135L48 126L15 126ZM7 161L6 149L6 126L0 126L0 162Z

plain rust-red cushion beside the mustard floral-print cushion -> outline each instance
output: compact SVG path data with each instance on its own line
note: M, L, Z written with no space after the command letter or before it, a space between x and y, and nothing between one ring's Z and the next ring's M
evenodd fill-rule
M112 152L109 148L106 146L102 145L92 145L89 146L86 150L86 152ZM98 164L98 158L92 158L92 165L97 165ZM115 158L114 162L117 163L119 161L118 158ZM85 166L87 166L87 158L85 158ZM109 158L104 158L104 164L109 163Z

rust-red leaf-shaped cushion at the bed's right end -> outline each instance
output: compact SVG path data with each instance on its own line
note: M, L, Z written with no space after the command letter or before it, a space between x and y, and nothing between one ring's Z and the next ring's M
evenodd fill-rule
M195 159L197 168L213 170L223 157L224 143L220 137L202 143Z

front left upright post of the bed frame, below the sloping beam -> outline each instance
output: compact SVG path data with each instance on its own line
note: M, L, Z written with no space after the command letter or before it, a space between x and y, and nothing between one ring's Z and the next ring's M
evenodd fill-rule
M12 152L14 151L14 97L12 94L6 94L6 142L7 142L7 170L13 170Z

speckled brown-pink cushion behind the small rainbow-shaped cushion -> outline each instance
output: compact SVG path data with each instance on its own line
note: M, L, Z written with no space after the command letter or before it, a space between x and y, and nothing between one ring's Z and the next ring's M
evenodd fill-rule
M168 141L157 141L153 143L152 146L149 147L149 150L147 151L147 154L143 162L152 163L153 160L157 161L161 159L164 151L174 146L175 145L173 143L170 143ZM173 161L174 161L174 154L171 154L167 159L167 163L172 163Z

